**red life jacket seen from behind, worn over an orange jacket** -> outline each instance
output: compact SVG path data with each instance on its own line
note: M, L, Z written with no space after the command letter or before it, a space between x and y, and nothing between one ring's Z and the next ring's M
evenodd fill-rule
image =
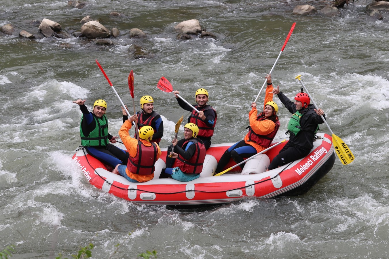
M157 154L158 149L155 143L151 143L151 146L147 147L138 140L137 155L135 158L130 157L127 162L128 171L138 175L151 175L154 173Z

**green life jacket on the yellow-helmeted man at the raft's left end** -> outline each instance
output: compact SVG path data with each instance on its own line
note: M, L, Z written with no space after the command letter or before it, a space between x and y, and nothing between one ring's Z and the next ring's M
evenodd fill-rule
M81 122L83 119L84 115L82 115ZM107 117L103 115L103 117L98 118L93 115L93 119L96 122L96 127L88 136L84 135L80 124L81 145L84 147L105 147L109 143Z

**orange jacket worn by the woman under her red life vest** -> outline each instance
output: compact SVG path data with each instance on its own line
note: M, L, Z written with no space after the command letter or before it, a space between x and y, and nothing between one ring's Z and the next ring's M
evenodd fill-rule
M263 103L264 110L265 110L265 104L268 101L273 101L273 93L272 93L273 85L272 84L268 85L266 87L265 91L266 91L265 102ZM255 133L257 133L259 135L267 135L275 129L276 126L275 126L275 123L273 121L270 121L270 120L257 121L257 116L258 116L257 108L252 108L251 111L249 112L249 121L250 121L251 129ZM249 133L247 133L246 136L244 137L244 141L246 144L252 145L257 150L257 153L266 149L265 147L255 143L255 142L249 141Z

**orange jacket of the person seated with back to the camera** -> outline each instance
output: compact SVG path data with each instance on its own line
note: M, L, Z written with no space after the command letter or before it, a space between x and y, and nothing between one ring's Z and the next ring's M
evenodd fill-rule
M136 138L131 138L130 134L128 133L131 127L132 127L132 123L129 120L127 120L123 123L123 125L119 129L119 137L123 141L124 146L126 146L126 149L130 154L130 159L134 158L137 155L137 145L138 145L138 140ZM148 142L147 140L140 139L140 141L147 147L151 146L151 143ZM158 144L157 144L157 149L158 149L158 154L157 154L157 159L158 159L159 156L161 156L162 154ZM138 182L147 182L153 179L154 177L154 173L152 173L151 175L138 175L136 173L131 173L130 171L128 171L128 168L126 168L126 173L128 177L130 177L131 179L135 179Z

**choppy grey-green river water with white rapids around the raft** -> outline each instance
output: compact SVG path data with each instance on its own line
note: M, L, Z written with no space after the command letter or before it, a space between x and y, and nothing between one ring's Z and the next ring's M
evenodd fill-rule
M67 1L2 0L0 26L35 33L30 22L47 18L74 32L90 15L121 36L107 47L78 38L0 35L0 250L14 244L12 258L70 257L92 242L93 258L136 258L147 250L177 259L388 258L389 16L377 21L365 5L352 4L338 17L298 16L292 14L297 3L91 0L72 9ZM111 11L124 17L109 16ZM188 19L198 19L218 39L176 40L173 26ZM347 166L336 159L307 194L207 210L136 205L91 186L72 161L81 117L72 101L86 99L91 108L103 98L110 133L117 135L122 123L120 103L95 59L129 107L127 77L134 71L137 105L149 94L163 116L161 147L173 138L179 117L189 115L156 87L161 76L191 102L205 87L218 112L212 142L237 142L294 22L273 83L293 98L300 89L294 77L302 75L332 131L356 158ZM130 39L131 28L148 37ZM155 58L131 58L131 44ZM275 101L282 138L291 114ZM321 131L329 133L324 125Z

